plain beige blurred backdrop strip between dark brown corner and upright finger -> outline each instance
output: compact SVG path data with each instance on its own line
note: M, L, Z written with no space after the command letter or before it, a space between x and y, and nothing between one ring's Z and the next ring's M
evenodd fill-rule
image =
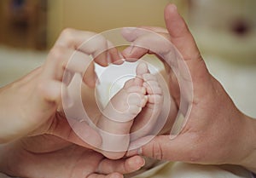
M66 27L103 32L122 26L165 26L163 13L171 2L183 11L183 0L49 1L49 46Z

